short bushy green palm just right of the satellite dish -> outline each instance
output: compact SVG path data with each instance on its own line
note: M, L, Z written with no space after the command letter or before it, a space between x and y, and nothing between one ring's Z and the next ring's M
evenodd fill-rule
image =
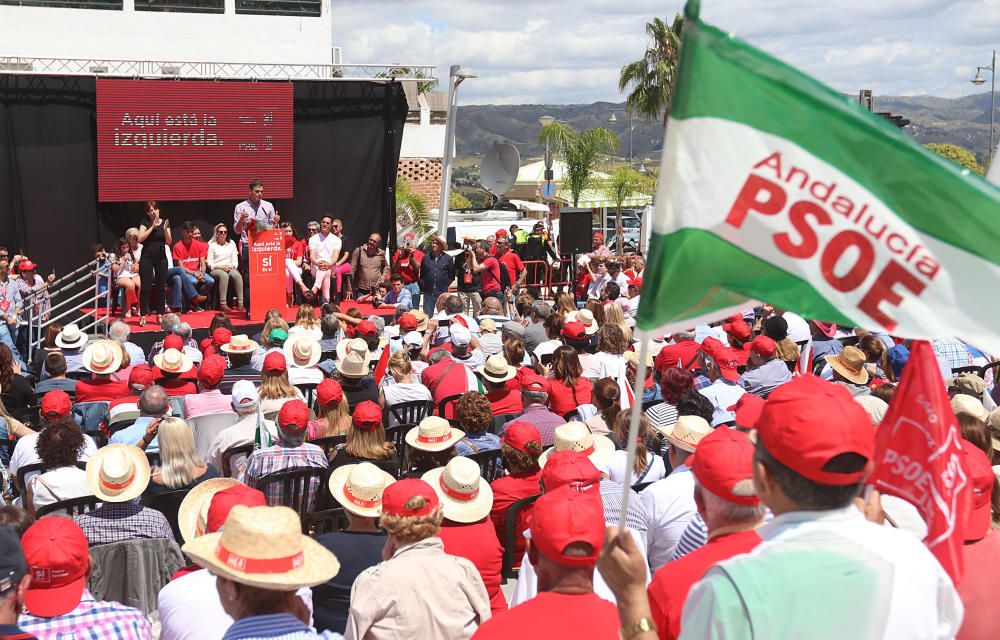
M603 156L618 149L618 136L613 131L598 127L577 133L563 122L542 127L538 141L553 146L555 154L566 164L563 186L572 194L574 207L579 205L585 189L599 186L594 172Z

